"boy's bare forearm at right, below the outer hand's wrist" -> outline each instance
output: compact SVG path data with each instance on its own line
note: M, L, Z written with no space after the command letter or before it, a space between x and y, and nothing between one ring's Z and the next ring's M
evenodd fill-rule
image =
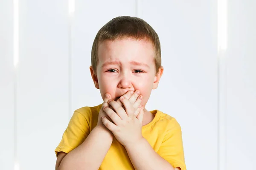
M145 138L136 144L125 146L125 149L136 170L174 170L168 161L153 150Z

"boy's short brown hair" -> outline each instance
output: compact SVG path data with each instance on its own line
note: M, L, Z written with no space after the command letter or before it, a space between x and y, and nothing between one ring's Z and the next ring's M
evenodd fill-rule
M144 20L138 17L122 16L113 18L105 24L97 33L91 52L91 64L96 72L98 63L98 47L104 40L116 40L122 38L134 38L137 40L150 40L155 50L155 68L158 73L161 67L161 47L159 37L154 29Z

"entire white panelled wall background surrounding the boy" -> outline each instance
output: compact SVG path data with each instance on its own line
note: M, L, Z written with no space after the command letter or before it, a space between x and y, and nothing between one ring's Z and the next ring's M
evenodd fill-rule
M1 0L0 170L55 169L73 111L102 102L90 51L121 15L160 37L165 70L147 109L178 120L187 169L256 170L255 8L227 2L227 48L218 51L217 0Z

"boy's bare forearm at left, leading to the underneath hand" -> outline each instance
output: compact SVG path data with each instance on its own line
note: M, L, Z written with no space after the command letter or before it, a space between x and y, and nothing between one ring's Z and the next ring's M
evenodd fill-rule
M112 141L109 130L95 127L82 144L63 158L58 170L98 170Z

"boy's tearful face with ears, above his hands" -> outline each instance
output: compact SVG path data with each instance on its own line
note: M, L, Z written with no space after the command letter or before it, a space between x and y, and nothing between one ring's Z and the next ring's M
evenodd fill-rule
M141 105L147 103L151 90L157 88L163 68L156 74L154 47L150 41L106 40L98 48L97 76L90 67L95 87L102 99L106 93L117 100L127 91L139 90Z

